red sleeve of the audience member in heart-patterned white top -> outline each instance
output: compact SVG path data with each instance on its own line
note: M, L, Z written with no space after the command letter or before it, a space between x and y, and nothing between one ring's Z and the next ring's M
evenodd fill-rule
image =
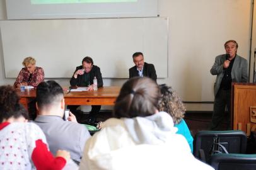
M35 141L32 161L38 170L62 169L66 165L66 159L63 157L54 157L41 139Z

